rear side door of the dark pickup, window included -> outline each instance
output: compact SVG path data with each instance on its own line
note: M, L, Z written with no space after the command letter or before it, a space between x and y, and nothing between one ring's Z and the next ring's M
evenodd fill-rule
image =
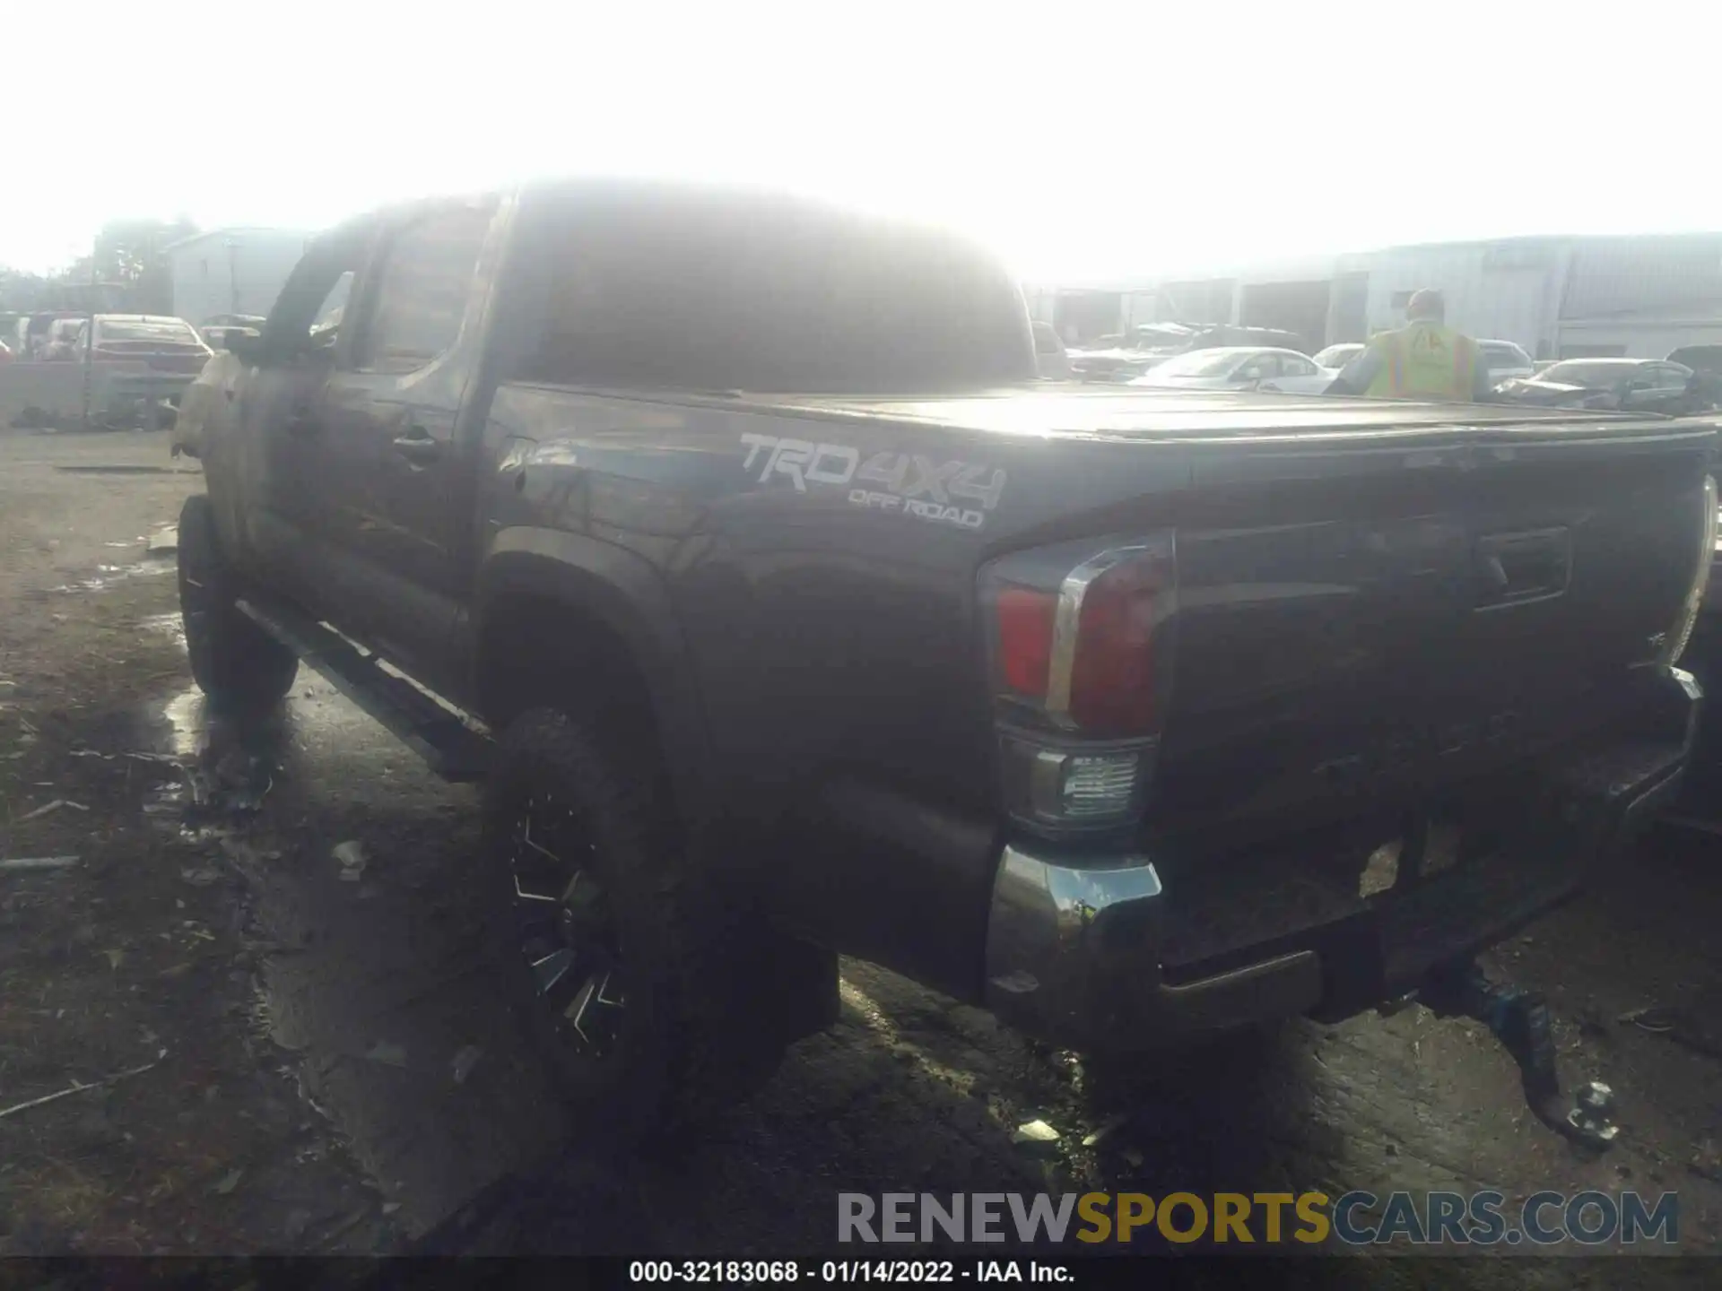
M331 618L434 673L472 540L456 422L494 275L494 196L415 207L382 238L343 320L301 465Z

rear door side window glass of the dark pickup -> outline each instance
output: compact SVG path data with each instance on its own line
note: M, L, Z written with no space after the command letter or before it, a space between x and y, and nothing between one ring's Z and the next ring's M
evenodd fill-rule
M417 372L455 344L491 210L441 210L391 239L355 351L360 372Z

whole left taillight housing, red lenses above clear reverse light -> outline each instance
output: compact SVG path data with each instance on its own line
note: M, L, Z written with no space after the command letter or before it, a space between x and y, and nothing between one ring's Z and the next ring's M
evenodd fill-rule
M1011 814L1042 833L1140 816L1171 685L1171 534L1016 553L982 571Z

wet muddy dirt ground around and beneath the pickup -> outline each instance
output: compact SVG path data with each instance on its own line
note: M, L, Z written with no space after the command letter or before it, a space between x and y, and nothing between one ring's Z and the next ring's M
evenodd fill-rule
M489 1007L460 888L472 790L308 673L267 730L207 718L172 554L148 549L201 485L170 466L164 435L0 434L0 857L77 857L0 871L0 1109L119 1076L0 1117L0 1255L425 1234L782 1255L830 1246L839 1191L1042 1188L1672 1189L1681 1250L1722 1253L1722 842L1679 833L1495 961L1550 995L1567 1081L1617 1090L1622 1140L1600 1157L1526 1112L1479 1026L1421 1007L1145 1062L1121 1086L847 964L839 1026L697 1141L542 1160L580 1127ZM1651 1005L1667 1016L1620 1021ZM1057 1145L1013 1145L1035 1119ZM1696 1286L1703 1265L1722 1267L1631 1274ZM1434 1281L1379 1260L1316 1272ZM1622 1272L1469 1258L1440 1281Z

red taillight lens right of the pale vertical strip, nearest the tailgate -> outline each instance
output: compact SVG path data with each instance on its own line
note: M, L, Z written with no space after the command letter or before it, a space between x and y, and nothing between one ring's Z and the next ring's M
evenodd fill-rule
M1155 559L1114 565L1081 597L1069 716L1093 735L1154 730L1155 597L1164 590Z

